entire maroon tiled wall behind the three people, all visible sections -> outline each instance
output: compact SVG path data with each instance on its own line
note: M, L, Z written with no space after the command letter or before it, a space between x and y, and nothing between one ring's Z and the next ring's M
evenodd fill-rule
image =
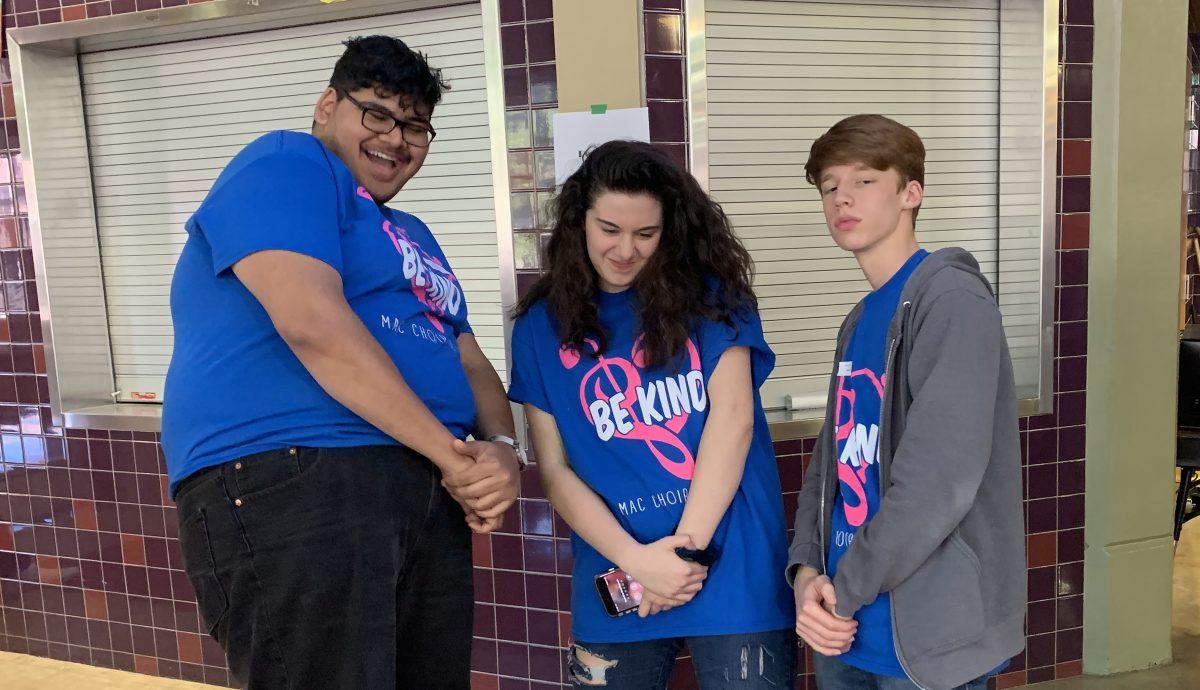
M5 0L29 26L185 0ZM557 107L551 0L500 0L518 287L541 268ZM688 157L682 0L643 0L652 139ZM994 684L1081 672L1084 398L1087 344L1092 2L1061 20L1055 412L1021 420L1026 461L1028 649ZM0 61L0 649L228 685L200 634L164 498L157 434L61 430L49 419L12 85ZM540 155L539 155L540 154ZM547 174L547 166L548 174ZM794 508L811 439L776 444ZM562 686L570 630L568 530L535 473L503 532L475 539L473 686ZM804 683L812 688L806 665ZM682 659L671 688L692 688Z

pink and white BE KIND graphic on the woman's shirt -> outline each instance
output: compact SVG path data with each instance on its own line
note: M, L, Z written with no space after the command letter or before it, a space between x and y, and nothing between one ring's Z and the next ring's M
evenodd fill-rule
M594 341L587 341L593 352ZM691 480L696 458L679 432L694 413L708 408L704 374L700 371L700 350L688 341L688 373L643 382L646 365L642 338L634 343L629 359L598 356L596 364L580 382L580 404L595 427L600 440L613 438L644 443L662 469ZM575 368L580 353L572 348L558 352L563 366Z

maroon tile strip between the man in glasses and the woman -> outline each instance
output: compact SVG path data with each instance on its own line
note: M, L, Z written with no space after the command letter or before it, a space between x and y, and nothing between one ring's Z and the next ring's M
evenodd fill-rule
M544 260L547 204L554 190L553 115L558 110L551 0L500 0L509 186L517 288ZM472 688L560 688L570 635L571 554L566 524L536 472L499 533L475 535L475 641Z

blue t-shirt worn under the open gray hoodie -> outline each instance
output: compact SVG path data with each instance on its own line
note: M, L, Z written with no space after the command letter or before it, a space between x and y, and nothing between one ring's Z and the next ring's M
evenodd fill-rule
M863 313L838 362L835 438L838 443L838 497L833 506L833 539L829 540L829 577L854 540L854 534L880 509L880 407L886 383L888 325L900 305L908 276L929 256L917 250L880 289L863 300ZM842 661L870 673L906 677L896 659L892 637L889 595L854 614L858 634Z

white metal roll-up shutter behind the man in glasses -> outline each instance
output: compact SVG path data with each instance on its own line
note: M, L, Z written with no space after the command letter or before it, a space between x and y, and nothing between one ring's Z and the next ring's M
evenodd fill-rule
M438 238L480 346L506 380L484 29L472 4L80 56L119 400L162 400L185 221L245 144L272 130L310 131L342 41L368 34L402 38L451 84L425 167L390 205Z

